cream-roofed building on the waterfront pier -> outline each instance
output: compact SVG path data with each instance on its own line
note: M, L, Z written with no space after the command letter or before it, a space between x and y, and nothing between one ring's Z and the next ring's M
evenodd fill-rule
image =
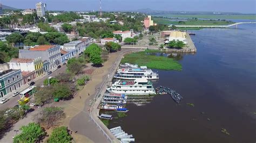
M172 31L169 38L166 38L167 40L165 43L169 43L170 41L183 41L184 44L187 44L187 38L186 38L186 32L181 31Z

